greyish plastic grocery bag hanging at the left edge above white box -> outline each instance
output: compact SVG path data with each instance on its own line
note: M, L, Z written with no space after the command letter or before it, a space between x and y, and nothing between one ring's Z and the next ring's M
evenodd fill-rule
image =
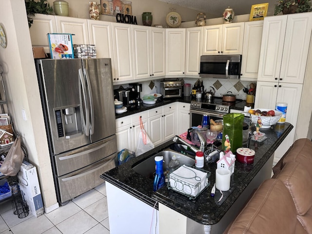
M0 167L0 172L5 176L16 176L20 171L24 156L24 152L20 147L20 136L18 135Z

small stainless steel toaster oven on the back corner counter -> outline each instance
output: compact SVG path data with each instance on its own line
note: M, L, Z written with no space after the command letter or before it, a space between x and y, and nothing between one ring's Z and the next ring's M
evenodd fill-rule
M182 97L183 81L177 79L157 81L157 92L162 94L163 98Z

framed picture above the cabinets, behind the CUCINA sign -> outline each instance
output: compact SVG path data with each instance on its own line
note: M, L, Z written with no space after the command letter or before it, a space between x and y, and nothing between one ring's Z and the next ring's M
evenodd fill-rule
M132 2L124 0L101 0L102 15L116 16L117 13L132 15Z

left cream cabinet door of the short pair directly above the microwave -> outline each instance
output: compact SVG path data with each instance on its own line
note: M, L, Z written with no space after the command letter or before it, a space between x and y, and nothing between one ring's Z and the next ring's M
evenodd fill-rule
M221 53L222 24L204 26L202 55L219 55Z

